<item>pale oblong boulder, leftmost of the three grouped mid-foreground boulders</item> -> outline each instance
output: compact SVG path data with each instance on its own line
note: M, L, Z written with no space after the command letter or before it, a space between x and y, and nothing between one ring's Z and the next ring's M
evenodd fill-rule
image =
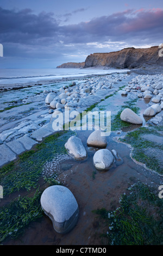
M68 139L65 143L65 148L68 154L77 160L84 159L87 155L81 139L76 136L71 136Z

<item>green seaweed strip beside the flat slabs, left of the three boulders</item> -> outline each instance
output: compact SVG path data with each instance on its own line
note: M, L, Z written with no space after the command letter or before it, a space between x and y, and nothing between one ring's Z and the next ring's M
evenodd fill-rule
M55 159L59 154L66 154L64 147L68 137L73 132L58 132L47 137L42 143L19 156L16 162L11 162L0 169L1 185L4 196L20 189L36 188L42 176L43 165Z

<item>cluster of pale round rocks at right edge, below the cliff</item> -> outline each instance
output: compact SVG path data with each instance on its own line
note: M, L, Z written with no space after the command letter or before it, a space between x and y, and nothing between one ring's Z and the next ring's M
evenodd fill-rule
M122 95L138 92L138 97L149 100L149 107L143 115L153 117L163 109L163 77L162 75L136 76L129 82Z

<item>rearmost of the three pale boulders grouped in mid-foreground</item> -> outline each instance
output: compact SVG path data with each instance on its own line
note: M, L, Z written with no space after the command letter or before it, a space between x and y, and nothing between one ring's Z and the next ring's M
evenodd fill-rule
M93 131L87 138L87 145L92 147L106 147L106 137L101 136L101 133L101 130Z

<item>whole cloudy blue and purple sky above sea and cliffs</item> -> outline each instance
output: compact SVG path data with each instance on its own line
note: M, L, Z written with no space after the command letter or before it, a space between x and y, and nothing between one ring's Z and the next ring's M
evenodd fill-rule
M162 0L0 0L0 68L56 68L160 45L162 28Z

